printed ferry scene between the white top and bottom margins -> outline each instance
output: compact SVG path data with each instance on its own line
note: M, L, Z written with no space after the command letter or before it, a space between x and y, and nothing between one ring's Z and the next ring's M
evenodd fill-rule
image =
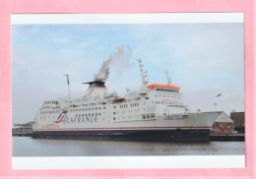
M242 22L11 28L13 156L244 155Z

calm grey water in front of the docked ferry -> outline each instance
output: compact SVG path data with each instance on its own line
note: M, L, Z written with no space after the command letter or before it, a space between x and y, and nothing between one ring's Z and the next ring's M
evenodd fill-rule
M155 143L13 137L13 156L241 155L244 142Z

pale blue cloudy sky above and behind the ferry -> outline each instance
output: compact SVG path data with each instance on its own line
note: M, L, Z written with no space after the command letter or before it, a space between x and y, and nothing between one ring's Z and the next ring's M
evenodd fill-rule
M72 96L83 96L88 86L82 83L120 46L131 54L111 64L109 91L139 89L135 59L142 59L149 84L167 84L168 71L192 112L244 111L241 23L12 25L13 122L32 121L45 99L68 95L65 74Z

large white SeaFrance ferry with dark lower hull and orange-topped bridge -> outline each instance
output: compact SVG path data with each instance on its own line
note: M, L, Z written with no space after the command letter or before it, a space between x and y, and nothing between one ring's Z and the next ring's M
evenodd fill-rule
M32 138L207 142L221 112L190 113L182 102L180 88L167 83L148 85L139 62L141 88L124 96L109 92L104 81L95 80L82 97L69 94L45 100L37 111Z

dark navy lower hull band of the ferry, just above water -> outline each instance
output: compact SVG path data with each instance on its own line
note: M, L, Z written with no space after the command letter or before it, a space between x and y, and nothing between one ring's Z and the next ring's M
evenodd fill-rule
M37 139L144 142L208 142L211 129L36 131Z

